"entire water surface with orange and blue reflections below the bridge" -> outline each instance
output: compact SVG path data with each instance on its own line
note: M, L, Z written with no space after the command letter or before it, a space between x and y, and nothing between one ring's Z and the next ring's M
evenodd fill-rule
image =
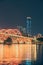
M43 65L43 44L0 44L0 65Z

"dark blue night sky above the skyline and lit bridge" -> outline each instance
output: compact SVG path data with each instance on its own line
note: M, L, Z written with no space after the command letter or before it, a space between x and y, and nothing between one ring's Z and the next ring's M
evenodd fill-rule
M32 33L43 34L43 0L0 0L0 28L26 27L32 18Z

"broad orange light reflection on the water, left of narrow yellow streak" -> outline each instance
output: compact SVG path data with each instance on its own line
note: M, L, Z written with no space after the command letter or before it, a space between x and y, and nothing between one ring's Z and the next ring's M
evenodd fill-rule
M10 46L0 44L0 61L21 63L22 60L31 60L30 44L12 44Z

